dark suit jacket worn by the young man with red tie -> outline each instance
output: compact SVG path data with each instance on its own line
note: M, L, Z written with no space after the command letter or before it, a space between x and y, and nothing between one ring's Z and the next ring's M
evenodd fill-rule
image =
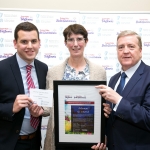
M35 59L35 68L39 89L46 88L46 64ZM13 114L13 104L18 94L24 94L22 76L16 55L0 61L0 149L13 150L22 126L25 108ZM40 117L40 120L42 117ZM41 144L41 121L37 129L38 141Z

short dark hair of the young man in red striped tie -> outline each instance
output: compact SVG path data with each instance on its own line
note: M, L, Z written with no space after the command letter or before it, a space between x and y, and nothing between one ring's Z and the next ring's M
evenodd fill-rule
M39 39L38 28L31 22L22 22L22 23L20 23L16 26L15 32L14 32L14 38L15 38L16 41L18 40L18 32L20 30L23 30L23 31L33 31L33 30L35 30L38 34L38 39Z

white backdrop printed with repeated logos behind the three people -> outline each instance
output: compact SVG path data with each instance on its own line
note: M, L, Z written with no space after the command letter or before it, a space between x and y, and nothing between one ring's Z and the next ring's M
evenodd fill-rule
M120 70L116 55L116 38L123 30L134 30L142 37L143 61L150 64L150 12L79 12L44 10L0 10L0 60L15 54L14 29L20 22L34 23L40 33L41 47L37 59L49 68L64 61L69 52L64 45L63 30L80 23L88 31L85 57L102 65L110 77ZM42 144L48 117L42 121Z

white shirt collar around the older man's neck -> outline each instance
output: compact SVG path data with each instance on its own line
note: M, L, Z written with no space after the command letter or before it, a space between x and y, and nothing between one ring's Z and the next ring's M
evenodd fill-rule
M128 77L128 78L131 78L131 77L133 76L133 74L135 73L135 71L137 70L137 68L140 66L140 64L141 64L141 60L138 61L138 63L136 63L133 67L129 68L129 69L126 70L126 71L123 71L123 70L121 69L121 73L122 73L122 72L125 72L126 75L127 75L127 77Z

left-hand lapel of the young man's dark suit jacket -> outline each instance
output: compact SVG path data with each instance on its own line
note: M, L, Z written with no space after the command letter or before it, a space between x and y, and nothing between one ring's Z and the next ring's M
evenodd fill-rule
M23 81L22 81L20 69L19 69L19 66L18 66L18 62L17 62L17 59L16 59L16 55L12 56L10 67L12 69L13 75L14 75L16 83L18 85L18 89L20 91L20 94L24 94Z

